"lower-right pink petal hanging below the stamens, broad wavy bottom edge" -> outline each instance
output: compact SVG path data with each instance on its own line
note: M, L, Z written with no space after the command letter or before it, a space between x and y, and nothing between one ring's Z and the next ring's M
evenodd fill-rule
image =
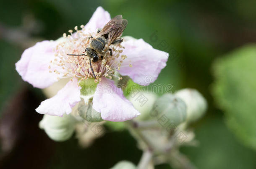
M114 81L102 77L94 93L92 107L108 121L126 121L140 115Z

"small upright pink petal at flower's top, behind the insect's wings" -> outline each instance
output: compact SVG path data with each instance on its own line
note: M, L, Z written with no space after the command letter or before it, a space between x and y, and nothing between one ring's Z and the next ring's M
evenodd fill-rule
M85 28L94 32L97 28L103 28L110 19L110 14L100 6L95 10Z

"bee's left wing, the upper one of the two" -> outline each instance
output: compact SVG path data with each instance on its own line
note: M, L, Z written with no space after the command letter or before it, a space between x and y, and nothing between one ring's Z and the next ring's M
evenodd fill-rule
M97 36L101 36L107 33L110 33L113 30L118 29L122 25L123 17L122 15L117 15L114 18L112 18L99 32Z

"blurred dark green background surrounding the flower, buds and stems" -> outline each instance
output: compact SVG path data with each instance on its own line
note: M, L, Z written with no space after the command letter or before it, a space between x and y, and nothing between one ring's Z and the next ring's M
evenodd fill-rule
M88 149L74 137L50 140L38 128L42 115L34 111L45 96L15 70L25 48L86 24L98 6L128 20L123 35L143 38L170 54L155 83L171 84L173 92L196 88L206 97L206 115L192 124L200 145L181 151L199 169L255 169L256 47L231 52L256 42L255 0L1 1L0 167L107 169L123 159L138 163L142 152L128 131L108 131ZM233 55L238 60L222 61Z

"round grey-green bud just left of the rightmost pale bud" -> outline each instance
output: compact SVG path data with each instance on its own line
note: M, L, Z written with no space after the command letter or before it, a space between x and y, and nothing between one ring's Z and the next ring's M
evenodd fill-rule
M159 97L150 112L151 117L157 118L158 122L164 125L178 125L186 119L186 105L183 100L173 94L164 94Z

